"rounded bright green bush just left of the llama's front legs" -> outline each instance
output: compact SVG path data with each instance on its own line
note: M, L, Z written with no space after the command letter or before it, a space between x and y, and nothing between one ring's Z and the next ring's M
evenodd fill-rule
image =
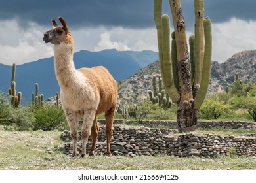
M45 107L35 108L34 115L34 130L51 131L53 129L66 128L66 118L62 108L45 105Z

